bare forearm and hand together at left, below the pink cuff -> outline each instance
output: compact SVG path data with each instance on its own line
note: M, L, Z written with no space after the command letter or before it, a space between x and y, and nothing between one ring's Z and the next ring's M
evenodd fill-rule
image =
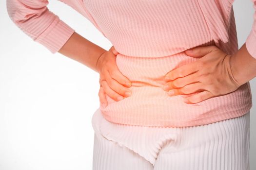
M58 52L99 73L98 96L102 105L107 105L106 94L115 101L119 101L118 97L127 97L125 93L131 93L128 88L131 86L131 82L118 70L116 65L118 52L113 46L106 51L74 32Z

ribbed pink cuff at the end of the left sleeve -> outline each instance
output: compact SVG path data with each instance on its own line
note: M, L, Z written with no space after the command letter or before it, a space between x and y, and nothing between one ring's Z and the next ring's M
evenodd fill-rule
M54 54L61 49L74 32L73 28L56 17L47 30L34 41L39 42Z

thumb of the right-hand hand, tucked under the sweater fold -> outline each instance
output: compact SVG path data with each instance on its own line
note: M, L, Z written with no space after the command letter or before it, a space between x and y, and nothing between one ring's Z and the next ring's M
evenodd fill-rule
M191 57L203 57L206 54L216 50L217 50L217 47L214 45L200 46L200 47L195 47L193 49L186 50L185 53Z

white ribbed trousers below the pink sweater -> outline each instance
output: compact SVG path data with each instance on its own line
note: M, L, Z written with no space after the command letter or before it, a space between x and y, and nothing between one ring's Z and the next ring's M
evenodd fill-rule
M249 170L250 111L190 127L116 124L99 110L93 170Z

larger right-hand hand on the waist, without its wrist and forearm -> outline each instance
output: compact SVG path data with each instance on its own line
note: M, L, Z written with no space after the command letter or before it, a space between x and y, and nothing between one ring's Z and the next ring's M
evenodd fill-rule
M197 103L231 93L240 86L232 73L232 55L214 45L196 47L192 52L187 50L185 53L201 58L165 75L168 83L163 90L168 91L169 96L188 95L184 102Z

